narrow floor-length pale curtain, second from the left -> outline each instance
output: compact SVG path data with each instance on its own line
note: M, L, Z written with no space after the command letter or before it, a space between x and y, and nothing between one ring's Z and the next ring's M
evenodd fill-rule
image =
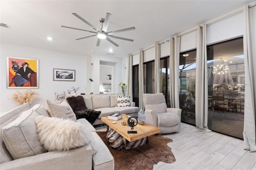
M140 61L139 61L139 107L140 112L144 113L143 93L144 93L144 82L143 82L143 51L140 50Z

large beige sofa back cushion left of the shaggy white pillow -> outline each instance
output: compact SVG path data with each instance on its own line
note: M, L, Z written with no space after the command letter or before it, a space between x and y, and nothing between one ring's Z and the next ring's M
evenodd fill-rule
M29 109L2 128L2 139L14 160L45 152L36 132L37 116L36 111Z

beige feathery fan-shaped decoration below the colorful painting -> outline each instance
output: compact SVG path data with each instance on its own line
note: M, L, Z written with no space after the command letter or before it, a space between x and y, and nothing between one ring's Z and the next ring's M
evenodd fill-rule
M32 103L36 97L35 92L28 89L24 94L20 93L20 91L16 91L16 93L12 94L10 99L16 101L20 105L23 105L24 103Z

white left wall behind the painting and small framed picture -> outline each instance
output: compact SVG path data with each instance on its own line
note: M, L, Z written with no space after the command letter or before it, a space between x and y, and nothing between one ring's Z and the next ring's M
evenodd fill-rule
M64 53L22 45L1 43L0 52L0 112L10 111L19 106L18 103L9 99L12 93L20 91L24 93L27 89L7 89L7 63L6 57L21 57L38 59L39 62L39 88L31 89L38 96L32 103L46 105L46 99L55 101L55 92L62 93L71 86L80 87L78 93L89 93L87 86L87 68L90 65L90 57L73 53ZM88 59L89 58L89 59ZM82 64L81 64L82 63ZM53 81L53 68L76 70L76 81Z

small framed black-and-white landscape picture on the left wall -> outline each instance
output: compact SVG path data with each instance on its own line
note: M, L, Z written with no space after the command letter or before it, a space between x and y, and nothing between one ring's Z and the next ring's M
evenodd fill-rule
M76 81L76 70L53 69L53 81Z

